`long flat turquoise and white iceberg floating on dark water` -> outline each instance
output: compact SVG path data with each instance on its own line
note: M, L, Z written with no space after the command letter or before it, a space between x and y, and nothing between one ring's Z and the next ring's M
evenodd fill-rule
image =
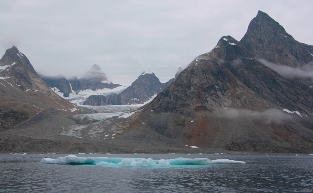
M151 158L109 158L109 157L78 157L68 155L57 159L44 158L44 164L69 164L69 165L100 165L105 167L172 167L186 165L222 165L245 164L244 161L228 159L210 160L207 158L175 158L169 160L152 160Z

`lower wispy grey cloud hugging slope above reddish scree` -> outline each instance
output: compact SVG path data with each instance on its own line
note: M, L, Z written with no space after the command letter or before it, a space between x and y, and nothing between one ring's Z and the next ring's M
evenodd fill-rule
M230 119L236 118L251 118L261 119L267 123L281 122L294 119L291 114L284 113L279 109L268 109L266 111L252 111L247 109L232 109L228 108L225 110L214 111L214 113L221 117L227 117Z

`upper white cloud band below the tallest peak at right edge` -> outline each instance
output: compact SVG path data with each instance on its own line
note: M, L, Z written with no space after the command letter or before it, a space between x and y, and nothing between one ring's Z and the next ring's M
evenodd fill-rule
M313 63L308 63L300 68L293 68L281 64L268 62L264 59L259 59L265 66L275 70L278 74L286 79L294 78L313 78Z

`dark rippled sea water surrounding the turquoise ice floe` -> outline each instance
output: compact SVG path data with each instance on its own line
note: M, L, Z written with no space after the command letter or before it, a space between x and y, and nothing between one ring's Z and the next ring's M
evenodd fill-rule
M246 164L108 167L40 163L68 154L0 154L0 192L313 192L313 155L86 154L79 157L208 158Z

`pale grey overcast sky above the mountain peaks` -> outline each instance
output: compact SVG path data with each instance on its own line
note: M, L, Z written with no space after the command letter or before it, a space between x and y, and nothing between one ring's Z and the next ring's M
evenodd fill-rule
M116 84L144 70L166 82L222 36L239 41L258 10L312 45L312 8L311 0L0 0L0 55L15 45L44 75L80 77L98 64Z

